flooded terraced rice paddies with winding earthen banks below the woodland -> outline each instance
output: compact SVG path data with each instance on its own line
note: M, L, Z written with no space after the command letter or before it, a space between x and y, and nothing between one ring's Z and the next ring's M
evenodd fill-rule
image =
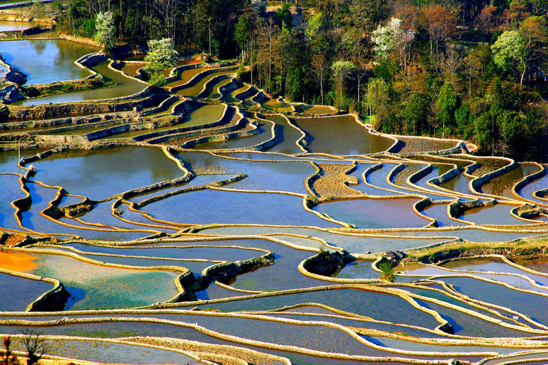
M542 164L271 99L234 64L153 90L69 40L0 52L27 78L0 90L16 349L33 329L75 363L548 360Z

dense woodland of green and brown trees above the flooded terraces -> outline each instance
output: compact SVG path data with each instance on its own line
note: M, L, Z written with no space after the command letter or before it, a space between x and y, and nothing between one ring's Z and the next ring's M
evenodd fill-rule
M548 0L72 0L59 25L94 36L111 12L119 42L171 38L183 54L236 58L271 95L547 162L547 11Z

